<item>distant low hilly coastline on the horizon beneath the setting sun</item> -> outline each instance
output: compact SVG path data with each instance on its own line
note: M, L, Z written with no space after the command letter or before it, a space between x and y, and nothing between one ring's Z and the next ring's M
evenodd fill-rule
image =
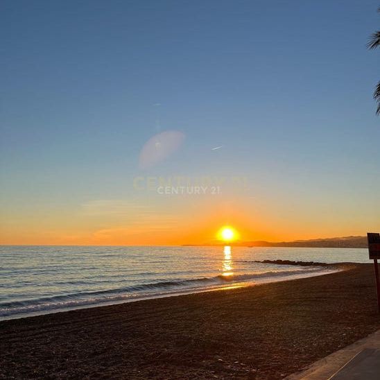
M184 245L225 245L225 243L204 243ZM230 245L238 247L288 247L288 248L367 248L366 236L343 236L327 239L310 239L294 241L236 241Z

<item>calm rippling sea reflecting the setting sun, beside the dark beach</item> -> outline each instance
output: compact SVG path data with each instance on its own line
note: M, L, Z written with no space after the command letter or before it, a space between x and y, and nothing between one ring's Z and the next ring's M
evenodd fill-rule
M365 249L0 246L0 319L319 275L288 259L368 262Z

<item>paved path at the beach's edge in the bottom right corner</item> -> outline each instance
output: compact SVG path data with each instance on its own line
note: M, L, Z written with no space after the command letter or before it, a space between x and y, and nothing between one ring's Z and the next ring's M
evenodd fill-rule
M380 379L380 330L313 363L286 380Z

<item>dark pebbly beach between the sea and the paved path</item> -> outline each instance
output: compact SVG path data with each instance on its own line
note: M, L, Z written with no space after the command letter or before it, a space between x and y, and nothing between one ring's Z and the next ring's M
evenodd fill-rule
M380 328L372 265L345 268L3 321L0 378L282 379Z

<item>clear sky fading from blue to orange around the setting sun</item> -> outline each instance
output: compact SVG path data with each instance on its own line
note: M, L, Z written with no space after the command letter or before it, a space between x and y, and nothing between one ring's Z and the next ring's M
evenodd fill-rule
M379 231L378 6L1 1L0 243Z

